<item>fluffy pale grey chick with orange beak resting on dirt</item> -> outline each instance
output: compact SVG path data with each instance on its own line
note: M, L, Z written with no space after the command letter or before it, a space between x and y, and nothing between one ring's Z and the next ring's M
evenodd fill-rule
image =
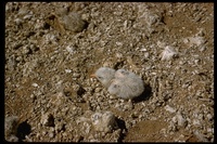
M95 77L107 89L110 94L120 99L132 100L144 91L142 79L125 69L115 71L115 69L108 67L101 67L91 76Z

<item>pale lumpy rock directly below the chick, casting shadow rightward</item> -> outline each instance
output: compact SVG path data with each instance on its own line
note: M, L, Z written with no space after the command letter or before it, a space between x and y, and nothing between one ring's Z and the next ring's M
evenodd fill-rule
M91 120L95 131L107 133L118 128L116 118L111 112L94 113Z

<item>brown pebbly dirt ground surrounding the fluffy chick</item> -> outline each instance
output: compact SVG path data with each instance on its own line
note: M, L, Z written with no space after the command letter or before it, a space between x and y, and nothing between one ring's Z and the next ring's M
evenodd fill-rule
M7 141L214 142L214 3L8 2ZM125 68L127 101L90 75Z

